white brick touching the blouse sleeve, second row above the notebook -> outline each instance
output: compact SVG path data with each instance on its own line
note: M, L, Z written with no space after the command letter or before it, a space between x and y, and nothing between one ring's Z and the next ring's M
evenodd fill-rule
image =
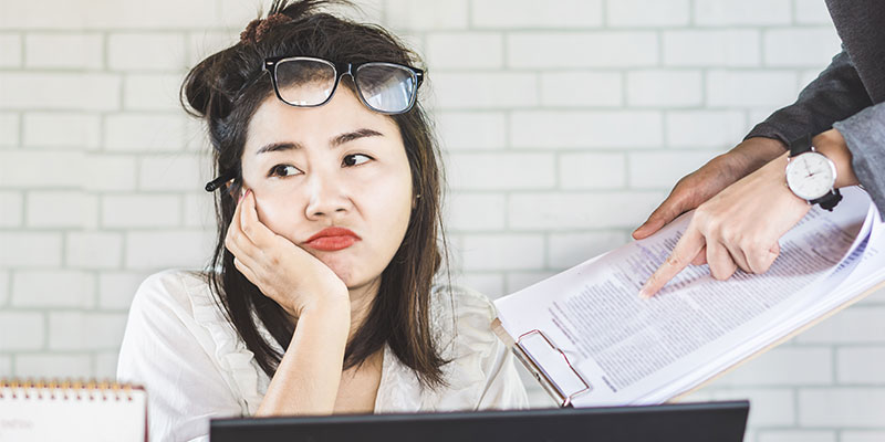
M49 314L49 348L107 350L119 348L126 314L64 312Z

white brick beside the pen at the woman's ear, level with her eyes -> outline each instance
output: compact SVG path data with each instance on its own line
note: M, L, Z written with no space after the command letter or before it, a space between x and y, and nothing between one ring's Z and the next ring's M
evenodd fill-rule
M208 158L174 154L142 157L138 168L140 190L200 191L212 179Z

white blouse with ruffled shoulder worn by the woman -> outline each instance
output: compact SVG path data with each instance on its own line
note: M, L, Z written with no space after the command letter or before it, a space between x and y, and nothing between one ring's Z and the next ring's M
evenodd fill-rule
M452 294L454 312L451 302L434 296L431 317L450 360L441 368L448 385L423 388L385 346L375 413L528 407L513 357L489 327L494 307L472 291ZM282 351L267 329L259 332ZM152 275L138 288L117 380L147 389L152 441L208 441L210 418L254 414L270 383L206 280L186 271Z

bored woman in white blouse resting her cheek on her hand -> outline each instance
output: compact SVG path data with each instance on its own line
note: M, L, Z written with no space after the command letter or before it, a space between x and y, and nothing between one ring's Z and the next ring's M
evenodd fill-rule
M424 73L386 31L275 1L183 85L219 178L212 267L150 276L117 377L150 435L208 418L522 408L481 295L434 285L440 171ZM187 107L186 106L186 107Z

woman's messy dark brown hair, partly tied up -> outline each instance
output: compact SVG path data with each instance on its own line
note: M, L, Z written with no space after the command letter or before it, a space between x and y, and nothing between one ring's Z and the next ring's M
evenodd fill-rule
M274 0L275 15L259 39L242 41L195 66L181 85L185 109L206 120L215 148L215 169L241 182L241 157L249 120L273 94L262 71L266 57L308 55L332 62L392 62L417 65L420 60L395 36L377 25L360 24L322 12L323 1ZM347 77L342 85L352 87ZM419 194L403 243L382 273L381 286L368 315L347 344L344 369L358 366L387 344L396 357L427 386L444 385L439 352L430 326L433 278L441 266L445 236L440 225L441 167L430 122L421 106L392 116L399 127L412 171L413 194ZM216 198L218 242L209 269L212 292L261 369L273 376L282 359L259 333L259 323L282 348L288 348L296 324L283 308L233 266L225 236L237 200L229 192ZM439 239L437 236L440 236ZM449 295L445 293L445 295ZM254 316L253 316L254 315Z

